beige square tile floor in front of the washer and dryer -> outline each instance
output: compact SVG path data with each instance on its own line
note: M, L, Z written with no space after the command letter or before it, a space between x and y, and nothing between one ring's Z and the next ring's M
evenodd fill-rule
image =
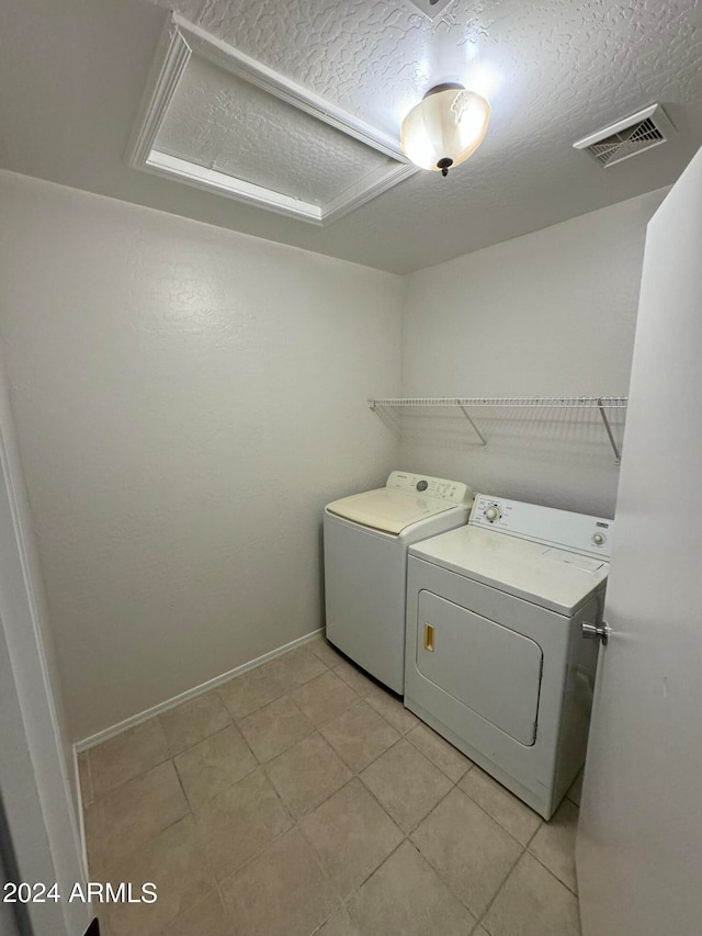
M105 936L577 936L550 823L322 640L79 757Z

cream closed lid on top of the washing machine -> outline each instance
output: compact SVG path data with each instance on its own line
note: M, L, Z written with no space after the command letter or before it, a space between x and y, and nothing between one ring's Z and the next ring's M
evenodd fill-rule
M333 500L327 505L327 510L343 517L344 520L397 534L412 523L455 507L456 505L449 500L378 487L376 490L365 490L363 494L352 494L351 497Z

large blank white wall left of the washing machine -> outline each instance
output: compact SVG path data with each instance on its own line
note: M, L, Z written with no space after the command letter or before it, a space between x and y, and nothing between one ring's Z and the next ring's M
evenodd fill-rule
M0 339L73 740L320 627L398 442L399 278L0 173Z

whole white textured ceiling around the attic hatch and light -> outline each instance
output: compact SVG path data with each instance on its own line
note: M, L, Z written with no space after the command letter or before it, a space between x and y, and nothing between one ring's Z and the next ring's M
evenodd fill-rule
M126 168L172 8L395 136L441 81L487 93L486 142L324 232ZM0 165L406 272L667 185L702 145L702 0L4 0ZM603 169L573 142L659 101L677 134ZM199 133L206 131L197 129Z

